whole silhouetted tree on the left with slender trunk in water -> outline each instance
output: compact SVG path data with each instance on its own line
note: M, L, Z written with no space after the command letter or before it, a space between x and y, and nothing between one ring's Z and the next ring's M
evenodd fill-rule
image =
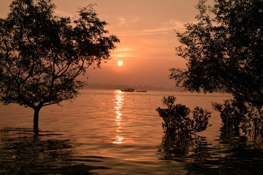
M109 60L119 42L93 5L73 22L55 8L52 0L14 0L0 19L0 101L33 108L36 130L41 107L74 99L85 84L76 77Z

